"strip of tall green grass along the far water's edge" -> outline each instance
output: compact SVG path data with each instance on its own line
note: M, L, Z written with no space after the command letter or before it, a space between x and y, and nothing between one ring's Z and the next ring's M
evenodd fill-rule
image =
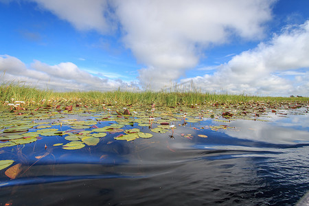
M240 104L249 102L309 102L309 98L258 97L251 95L229 95L202 92L128 92L128 91L73 91L55 92L39 90L21 84L6 83L0 86L0 103L25 104L25 106L44 106L55 104L157 104L161 106L177 106L191 104Z

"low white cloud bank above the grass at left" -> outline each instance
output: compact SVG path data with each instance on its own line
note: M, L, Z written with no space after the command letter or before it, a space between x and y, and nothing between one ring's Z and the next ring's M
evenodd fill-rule
M38 89L57 91L108 91L122 87L126 90L138 90L135 82L122 82L98 78L87 71L79 69L72 62L61 62L58 65L47 65L38 60L27 67L14 56L0 56L0 71L5 81L25 82Z

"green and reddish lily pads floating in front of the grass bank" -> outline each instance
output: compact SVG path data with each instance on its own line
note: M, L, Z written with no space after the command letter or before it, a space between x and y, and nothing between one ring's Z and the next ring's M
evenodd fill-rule
M275 107L271 108L271 111ZM209 109L203 105L165 107L157 106L47 106L27 108L19 113L1 111L0 148L30 144L43 137L63 136L67 144L54 144L65 150L74 150L84 146L95 146L100 138L115 134L114 139L132 141L137 138L150 138L154 133L168 133L172 124L185 126L198 124L205 118L216 122L231 122L233 119L253 119L266 121L267 108L264 103L238 104L235 106L215 105ZM279 113L278 110L275 113ZM124 111L124 112L121 112ZM274 112L273 112L274 113ZM71 116L89 117L86 120L69 119ZM262 117L263 119L260 119ZM46 121L46 122L45 122ZM99 122L111 123L99 128ZM69 130L58 130L52 126L69 126ZM149 128L149 133L139 128L124 130L125 126ZM172 128L174 134L174 127ZM209 126L211 130L231 128L227 125ZM78 132L74 132L78 131Z

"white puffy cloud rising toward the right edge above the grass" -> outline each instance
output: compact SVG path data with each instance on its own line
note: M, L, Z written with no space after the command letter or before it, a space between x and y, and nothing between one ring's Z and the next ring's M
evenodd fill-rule
M214 75L187 78L182 82L192 80L210 92L308 95L309 71L299 72L308 67L309 21L306 21L303 25L286 27L268 43L260 43L255 49L233 56L229 62L218 66Z

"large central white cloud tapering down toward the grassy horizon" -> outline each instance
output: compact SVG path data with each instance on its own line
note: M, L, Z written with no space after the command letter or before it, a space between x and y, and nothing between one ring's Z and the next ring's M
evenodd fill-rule
M230 36L260 38L274 1L116 1L124 43L139 62L142 84L159 89L198 63L201 49Z

